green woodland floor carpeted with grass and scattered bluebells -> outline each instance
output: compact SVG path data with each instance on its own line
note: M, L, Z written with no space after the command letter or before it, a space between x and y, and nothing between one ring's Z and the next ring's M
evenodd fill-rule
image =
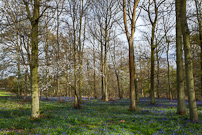
M73 101L40 101L41 118L30 120L31 103L19 99L0 99L0 134L69 135L158 135L202 134L202 121L191 123L189 116L176 114L177 101L140 98L138 111L128 111L129 100L84 101L82 109L73 109ZM202 119L202 102L198 103Z

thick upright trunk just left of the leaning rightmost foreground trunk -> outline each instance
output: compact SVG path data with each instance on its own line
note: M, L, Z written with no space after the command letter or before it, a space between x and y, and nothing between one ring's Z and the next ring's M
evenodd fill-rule
M187 114L184 92L182 30L180 21L180 0L175 2L176 10L176 55L177 55L177 114Z

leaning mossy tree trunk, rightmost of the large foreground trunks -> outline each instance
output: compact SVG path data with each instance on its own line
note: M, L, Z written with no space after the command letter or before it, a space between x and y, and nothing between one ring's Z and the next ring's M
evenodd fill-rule
M190 46L190 36L189 28L187 24L186 16L186 0L181 0L181 29L183 34L184 41L184 53L185 53L185 70L186 70L186 84L187 84L187 93L189 101L189 111L190 111L190 120L193 122L198 122L198 109L196 104L195 90L194 90L194 77L193 77L193 68L192 68L192 56L191 56L191 46Z

